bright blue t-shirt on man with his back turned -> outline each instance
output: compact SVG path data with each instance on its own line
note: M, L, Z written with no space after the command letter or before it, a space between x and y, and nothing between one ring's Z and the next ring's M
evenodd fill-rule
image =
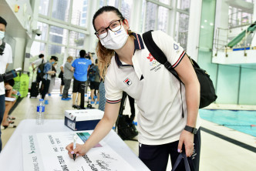
M87 80L87 69L92 61L89 59L79 58L72 63L72 67L75 68L74 77L80 82Z

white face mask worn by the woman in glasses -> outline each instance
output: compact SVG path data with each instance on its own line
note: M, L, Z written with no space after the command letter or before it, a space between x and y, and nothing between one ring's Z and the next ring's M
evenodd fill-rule
M121 49L123 45L126 44L129 35L126 30L122 27L119 31L112 32L110 29L108 30L108 35L104 39L99 39L101 44L106 49Z

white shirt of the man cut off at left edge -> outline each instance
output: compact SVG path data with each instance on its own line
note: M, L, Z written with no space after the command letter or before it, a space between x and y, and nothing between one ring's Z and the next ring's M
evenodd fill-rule
M0 74L5 73L6 65L12 63L12 48L5 42L5 50L3 55L0 55ZM0 82L0 95L5 94L5 83Z

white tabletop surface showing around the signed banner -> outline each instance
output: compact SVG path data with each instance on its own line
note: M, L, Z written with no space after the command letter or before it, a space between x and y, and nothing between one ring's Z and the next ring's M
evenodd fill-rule
M42 126L35 125L35 119L23 120L0 153L1 170L23 170L22 134L39 132L72 132L72 130L64 125L64 119L45 119ZM103 140L134 169L149 170L113 130Z

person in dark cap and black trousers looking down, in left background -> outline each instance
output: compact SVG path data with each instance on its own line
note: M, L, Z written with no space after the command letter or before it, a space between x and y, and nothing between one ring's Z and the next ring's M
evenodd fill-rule
M55 71L52 71L52 65L58 61L58 58L54 55L52 55L51 59L45 63L45 67L44 67L44 76L43 76L43 79L42 79L42 99L45 99L45 95L46 93L48 92L49 90L49 86L50 86L50 82L51 82L51 75L54 75L56 72ZM45 100L45 104L47 105L48 104L48 101Z

